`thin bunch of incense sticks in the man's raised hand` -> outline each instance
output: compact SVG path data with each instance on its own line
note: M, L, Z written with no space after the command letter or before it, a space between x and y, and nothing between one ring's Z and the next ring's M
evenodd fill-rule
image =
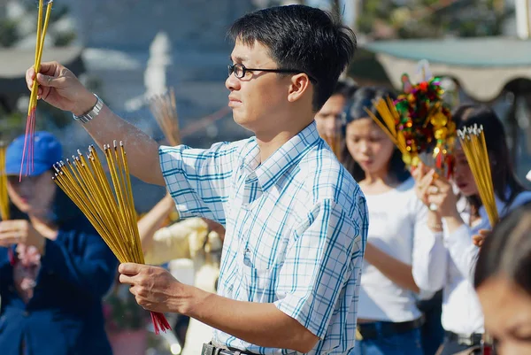
M46 15L44 24L42 24L42 14L44 12L44 4L46 3ZM39 14L37 18L37 40L35 43L35 74L39 73L41 69L42 50L44 48L44 39L46 38L46 31L50 22L51 6L53 0L39 0ZM22 150L22 162L20 163L19 180L22 180L22 174L28 175L33 172L34 159L34 145L35 145L35 109L37 107L37 94L39 91L39 84L35 78L31 88L31 95L29 96L29 105L27 107L27 121L26 121L26 136L24 138L24 150ZM24 161L26 160L26 171L24 169Z

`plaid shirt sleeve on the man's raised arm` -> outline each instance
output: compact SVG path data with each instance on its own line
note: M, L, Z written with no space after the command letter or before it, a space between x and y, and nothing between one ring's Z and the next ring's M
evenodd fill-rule
M159 148L166 188L182 218L201 216L225 225L224 205L240 148L238 143L216 143L208 150Z

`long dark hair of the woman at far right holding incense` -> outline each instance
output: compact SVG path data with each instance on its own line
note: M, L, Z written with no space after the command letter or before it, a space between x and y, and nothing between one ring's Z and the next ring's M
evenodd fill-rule
M483 133L489 152L490 171L496 197L510 206L514 198L526 188L519 182L512 167L509 147L505 138L505 129L496 112L485 105L465 104L453 113L458 128L473 125L483 126ZM509 190L509 195L507 192ZM468 202L477 212L481 207L479 196L467 197Z

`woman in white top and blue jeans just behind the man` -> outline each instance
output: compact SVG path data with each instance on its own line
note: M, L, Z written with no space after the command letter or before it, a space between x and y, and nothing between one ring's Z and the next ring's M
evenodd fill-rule
M422 354L417 297L443 285L433 269L445 257L442 230L427 220L399 150L366 112L381 120L373 100L387 96L385 89L358 89L346 111L342 161L366 196L371 221L351 355Z

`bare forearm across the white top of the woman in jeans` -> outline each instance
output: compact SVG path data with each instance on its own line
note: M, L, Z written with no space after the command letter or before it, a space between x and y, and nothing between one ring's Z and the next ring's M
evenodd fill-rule
M413 279L412 266L393 258L371 243L367 243L365 259L376 267L381 274L404 289L419 293L419 286Z

